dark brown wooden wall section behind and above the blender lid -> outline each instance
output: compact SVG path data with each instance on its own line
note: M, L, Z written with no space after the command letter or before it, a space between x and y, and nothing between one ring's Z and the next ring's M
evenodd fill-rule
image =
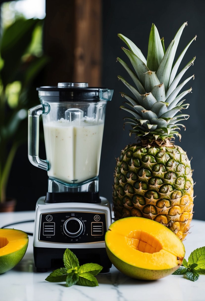
M101 85L101 0L46 0L44 52L50 62L45 85Z

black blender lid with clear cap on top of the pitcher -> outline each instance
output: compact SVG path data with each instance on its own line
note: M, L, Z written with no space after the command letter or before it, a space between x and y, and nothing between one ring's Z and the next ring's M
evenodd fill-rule
M38 96L66 97L68 100L105 100L112 99L113 91L108 88L89 87L87 82L59 82L57 86L42 86L36 88Z

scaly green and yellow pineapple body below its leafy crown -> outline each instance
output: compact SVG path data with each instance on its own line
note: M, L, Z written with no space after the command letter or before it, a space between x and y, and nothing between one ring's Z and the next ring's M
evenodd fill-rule
M115 167L114 219L153 219L184 240L193 217L193 185L190 160L181 147L129 144Z

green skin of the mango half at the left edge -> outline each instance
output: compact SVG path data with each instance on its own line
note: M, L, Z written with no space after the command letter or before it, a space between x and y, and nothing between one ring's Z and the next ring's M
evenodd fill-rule
M4 256L0 256L0 274L3 274L11 270L12 268L14 268L14 266L16 266L21 261L21 259L26 253L28 244L29 244L29 240L27 244L25 244L23 248L21 248L20 250L17 250L13 253Z

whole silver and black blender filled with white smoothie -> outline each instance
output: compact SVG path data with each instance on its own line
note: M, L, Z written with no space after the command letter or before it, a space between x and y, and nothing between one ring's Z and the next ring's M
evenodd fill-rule
M80 264L112 264L105 233L112 223L109 201L99 195L99 164L107 101L113 90L87 83L58 83L36 89L40 104L28 111L28 158L47 171L48 189L35 208L33 237L37 272L61 267L70 249ZM39 157L43 119L46 160Z

